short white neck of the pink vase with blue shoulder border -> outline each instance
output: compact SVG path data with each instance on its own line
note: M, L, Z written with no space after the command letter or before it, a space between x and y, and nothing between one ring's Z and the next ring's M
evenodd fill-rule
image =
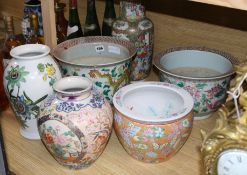
M87 78L70 76L58 80L53 89L60 100L81 101L91 95L92 82Z

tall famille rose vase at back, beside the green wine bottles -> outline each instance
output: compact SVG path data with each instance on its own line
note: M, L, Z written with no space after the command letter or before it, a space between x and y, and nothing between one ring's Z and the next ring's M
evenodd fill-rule
M113 22L112 36L127 39L137 48L137 55L132 61L131 80L145 79L151 72L154 27L145 16L141 0L120 1L120 17Z

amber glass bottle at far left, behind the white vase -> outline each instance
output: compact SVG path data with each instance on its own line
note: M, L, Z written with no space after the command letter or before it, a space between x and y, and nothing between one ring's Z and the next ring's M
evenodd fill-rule
M5 41L3 44L3 48L1 50L3 57L3 66L6 67L8 65L9 60L11 59L10 51L16 46L21 45L21 41L16 38L14 33L14 24L12 16L4 16L5 23Z

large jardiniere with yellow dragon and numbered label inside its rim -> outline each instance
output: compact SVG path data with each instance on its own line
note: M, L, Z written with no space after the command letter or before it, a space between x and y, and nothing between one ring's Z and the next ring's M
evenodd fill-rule
M82 76L112 103L114 93L130 82L136 48L130 41L107 36L81 37L57 45L53 56L64 76Z

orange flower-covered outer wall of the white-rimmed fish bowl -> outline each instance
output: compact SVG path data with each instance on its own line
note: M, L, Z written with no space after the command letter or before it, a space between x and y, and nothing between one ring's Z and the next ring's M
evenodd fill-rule
M145 124L114 114L114 129L125 148L134 158L157 163L172 157L186 142L191 132L193 114L170 124Z

